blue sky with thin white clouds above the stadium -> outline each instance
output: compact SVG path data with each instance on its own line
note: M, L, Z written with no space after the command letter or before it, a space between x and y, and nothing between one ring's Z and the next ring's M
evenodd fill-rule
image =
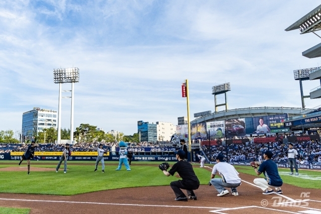
M302 56L320 38L284 29L319 4L1 1L0 130L21 130L22 114L34 107L58 110L57 68L79 68L74 127L89 123L132 135L139 120L177 125L187 116L186 79L191 120L194 113L215 111L212 87L227 82L229 109L300 108L293 70L321 66L319 58ZM304 95L318 86L318 80L304 81ZM70 127L70 103L62 101L62 128ZM305 105L321 102L305 99Z

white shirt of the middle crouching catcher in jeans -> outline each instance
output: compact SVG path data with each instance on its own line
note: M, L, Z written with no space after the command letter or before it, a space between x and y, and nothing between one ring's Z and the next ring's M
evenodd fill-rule
M234 166L227 162L219 162L214 165L212 174L219 172L223 181L226 183L240 183L241 178L238 176L239 173L236 171Z

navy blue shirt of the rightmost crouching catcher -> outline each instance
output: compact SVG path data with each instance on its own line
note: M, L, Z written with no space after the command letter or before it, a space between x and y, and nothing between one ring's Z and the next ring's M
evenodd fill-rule
M265 175L267 183L271 186L282 186L283 181L277 170L277 165L273 160L268 159L263 161L257 171Z

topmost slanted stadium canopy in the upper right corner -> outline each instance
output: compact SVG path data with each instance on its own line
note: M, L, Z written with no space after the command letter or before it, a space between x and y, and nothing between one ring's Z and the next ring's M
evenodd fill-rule
M301 34L306 34L321 30L321 5L289 26L285 31L300 29Z

